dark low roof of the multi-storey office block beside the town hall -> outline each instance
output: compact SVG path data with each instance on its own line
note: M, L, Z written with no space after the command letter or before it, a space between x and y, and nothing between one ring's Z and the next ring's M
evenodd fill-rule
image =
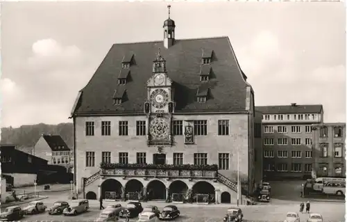
M290 114L290 113L321 113L323 105L287 105L287 106L255 106L256 111L263 114Z

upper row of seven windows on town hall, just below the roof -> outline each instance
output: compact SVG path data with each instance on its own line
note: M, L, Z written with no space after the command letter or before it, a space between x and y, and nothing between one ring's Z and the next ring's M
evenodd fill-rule
M101 136L111 136L111 121L101 121ZM218 120L217 127L218 135L227 136L229 135L229 120ZM183 135L183 120L172 121L172 133L174 135ZM208 120L194 120L194 135L205 136L208 134ZM85 135L95 135L95 122L85 122ZM118 135L128 136L129 135L129 124L128 121L118 122ZM146 121L136 121L136 136L146 136Z

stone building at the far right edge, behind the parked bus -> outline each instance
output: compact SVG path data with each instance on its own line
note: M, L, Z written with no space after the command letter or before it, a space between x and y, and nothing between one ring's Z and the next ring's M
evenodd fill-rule
M316 177L346 177L346 123L312 125Z

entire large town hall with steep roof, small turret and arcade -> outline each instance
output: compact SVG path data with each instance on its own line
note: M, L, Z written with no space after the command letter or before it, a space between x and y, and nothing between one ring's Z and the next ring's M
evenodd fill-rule
M236 203L262 180L253 89L228 37L176 40L170 17L162 31L160 41L112 45L79 91L71 111L79 196L202 193Z

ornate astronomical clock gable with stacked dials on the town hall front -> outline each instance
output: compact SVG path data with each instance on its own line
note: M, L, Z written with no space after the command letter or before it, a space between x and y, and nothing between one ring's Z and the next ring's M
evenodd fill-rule
M172 145L171 119L174 113L172 81L167 76L166 61L158 54L153 61L152 76L147 81L144 112L148 119L148 145Z

